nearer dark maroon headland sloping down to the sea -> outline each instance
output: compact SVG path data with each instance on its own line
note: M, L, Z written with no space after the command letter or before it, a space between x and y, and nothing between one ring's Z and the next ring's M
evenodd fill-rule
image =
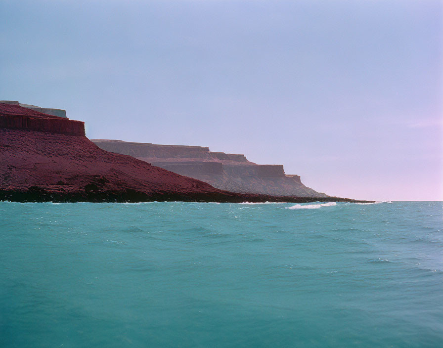
M0 199L15 201L263 200L104 151L83 122L0 103Z

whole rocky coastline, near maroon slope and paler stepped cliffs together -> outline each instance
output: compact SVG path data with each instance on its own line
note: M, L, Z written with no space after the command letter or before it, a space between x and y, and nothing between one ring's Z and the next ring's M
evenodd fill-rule
M285 175L283 166L257 165L243 155L94 141L101 148L85 136L84 123L64 110L0 102L0 200L365 202L318 193L298 175Z

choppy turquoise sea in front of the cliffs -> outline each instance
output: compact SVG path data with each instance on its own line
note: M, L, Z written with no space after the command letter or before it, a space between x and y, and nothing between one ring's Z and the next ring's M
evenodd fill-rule
M308 206L0 202L0 346L443 347L443 203Z

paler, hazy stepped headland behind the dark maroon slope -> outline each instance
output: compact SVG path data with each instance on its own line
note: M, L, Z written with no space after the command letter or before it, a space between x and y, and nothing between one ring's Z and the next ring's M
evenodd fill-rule
M287 175L281 165L258 165L244 155L212 152L208 147L156 145L92 139L100 148L133 156L177 174L239 193L274 196L328 197L306 187L299 175Z

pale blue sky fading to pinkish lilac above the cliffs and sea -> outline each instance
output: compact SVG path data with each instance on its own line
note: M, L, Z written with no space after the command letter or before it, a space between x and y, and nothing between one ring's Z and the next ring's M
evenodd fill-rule
M0 99L329 195L443 200L443 1L0 0Z

